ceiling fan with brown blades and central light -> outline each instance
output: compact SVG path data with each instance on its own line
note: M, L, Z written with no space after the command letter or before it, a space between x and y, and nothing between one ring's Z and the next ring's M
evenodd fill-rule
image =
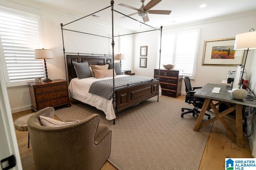
M140 8L134 8L132 6L126 5L126 4L118 4L120 6L124 6L126 8L130 8L133 10L136 10L136 13L133 14L129 14L127 16L133 16L135 14L138 14L138 16L141 16L144 22L149 21L148 18L148 14L164 14L164 15L169 15L172 11L170 10L150 10L151 8L153 8L154 6L156 6L156 4L158 4L159 2L161 2L162 0L151 0L150 2L148 2L148 4L146 4L146 6L144 5L145 0L140 0L140 2L142 2L142 6ZM123 16L121 18L125 18L126 16Z

